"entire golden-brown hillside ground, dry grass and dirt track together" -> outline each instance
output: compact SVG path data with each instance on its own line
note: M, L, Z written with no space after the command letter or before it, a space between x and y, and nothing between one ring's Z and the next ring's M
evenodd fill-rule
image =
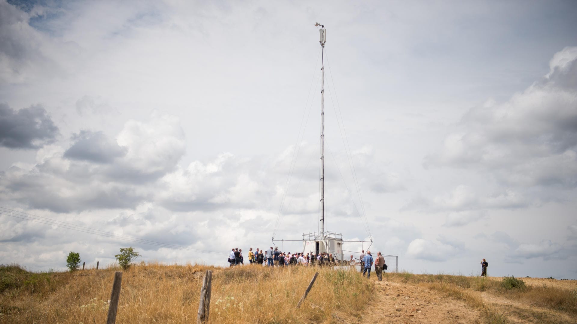
M577 281L387 273L331 268L133 266L117 323L194 323L213 270L212 323L577 323ZM1 323L104 323L118 268L29 273L0 266ZM296 305L315 272L305 303Z

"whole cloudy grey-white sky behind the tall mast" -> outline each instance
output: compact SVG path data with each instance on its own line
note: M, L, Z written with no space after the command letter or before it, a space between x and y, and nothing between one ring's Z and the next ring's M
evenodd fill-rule
M0 264L109 265L133 246L224 266L232 247L319 231L320 22L325 229L414 273L486 258L489 276L577 278L576 16L574 1L0 0Z

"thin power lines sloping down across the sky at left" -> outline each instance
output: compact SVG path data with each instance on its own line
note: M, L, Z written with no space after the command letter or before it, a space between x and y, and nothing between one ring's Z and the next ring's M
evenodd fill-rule
M14 209L2 207L2 206L0 206L0 214L5 215L5 216L14 217L14 218L20 218L22 220L33 221L35 223L40 223L40 224L44 224L44 225L51 225L51 226L55 226L58 228L72 229L73 231L77 231L77 232L84 232L84 233L89 233L89 234L93 234L93 235L103 236L106 238L124 240L126 242L147 244L150 246L157 246L157 247L173 248L174 250L183 250L183 251L190 251L190 252L196 252L196 253L228 255L227 253L222 253L222 252L200 250L198 248L190 248L190 247L178 246L175 244L168 244L168 243L156 242L156 241L152 241L152 240L134 238L133 236L102 231L100 229L80 226L80 225L76 225L76 224L72 224L72 223L66 223L63 221L54 220L52 218L43 217L43 216L36 216L36 215L30 214L30 213L20 212L18 210L14 210Z

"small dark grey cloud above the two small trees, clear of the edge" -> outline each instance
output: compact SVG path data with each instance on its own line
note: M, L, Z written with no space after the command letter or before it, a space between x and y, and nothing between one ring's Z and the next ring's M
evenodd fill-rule
M95 163L112 163L114 159L126 155L126 148L118 145L102 131L83 130L73 136L73 145L70 146L64 157L73 160L85 160Z

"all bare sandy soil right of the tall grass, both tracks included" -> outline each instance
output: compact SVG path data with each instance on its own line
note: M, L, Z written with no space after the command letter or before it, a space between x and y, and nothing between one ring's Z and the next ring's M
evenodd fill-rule
M446 291L439 291L439 285L411 279L404 282L405 280L399 278L389 278L397 282L373 281L376 288L375 296L365 310L356 317L337 319L347 323L577 323L577 317L570 312L537 305L530 299L519 298L515 293L502 295L494 288L477 291L474 285L471 287L466 285L459 288L462 289L462 295L459 296L458 292L448 295ZM487 279L496 282L503 280L502 277ZM548 278L520 279L531 287L565 289L569 292L577 289L577 281ZM474 303L464 302L463 299L467 298L463 295L466 294L478 300L477 307L473 307ZM484 306L479 307L481 304ZM493 317L488 318L486 310L492 312Z

